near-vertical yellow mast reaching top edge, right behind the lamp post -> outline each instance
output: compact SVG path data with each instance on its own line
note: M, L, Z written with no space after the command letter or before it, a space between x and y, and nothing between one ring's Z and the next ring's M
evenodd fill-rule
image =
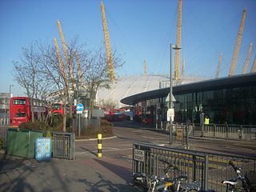
M176 46L182 46L182 0L178 1L178 25L176 29ZM181 49L175 50L174 54L174 79L179 78L179 65L181 62Z

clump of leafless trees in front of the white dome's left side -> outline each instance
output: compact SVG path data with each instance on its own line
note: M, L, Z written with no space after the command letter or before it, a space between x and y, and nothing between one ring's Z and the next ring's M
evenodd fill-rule
M85 50L84 46L79 45L78 40L74 39L67 47L68 61L72 63L73 75L67 75L68 63L63 62L66 60L62 59L64 57L56 49L57 47L54 47L54 43L42 45L34 42L29 48L23 48L20 61L14 62L14 78L19 85L25 88L26 94L32 100L31 103L33 103L33 98L44 101L54 98L54 93L61 99L64 106L64 132L66 131L66 103L68 101L72 107L74 98L85 96L91 117L98 88L110 88L103 46L94 51ZM75 58L75 54L79 55L79 60ZM81 64L79 71L78 67L75 67L76 62ZM120 58L114 58L114 67L122 66L120 63ZM79 89L85 94L79 95Z

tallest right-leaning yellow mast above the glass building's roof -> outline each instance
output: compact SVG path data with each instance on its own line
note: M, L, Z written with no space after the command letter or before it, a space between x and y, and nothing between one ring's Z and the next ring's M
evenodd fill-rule
M241 41L242 41L242 32L243 32L243 27L245 25L245 21L246 21L246 10L243 10L242 11L242 21L241 21L241 24L240 24L240 27L238 30L238 38L237 38L237 42L234 46L234 53L233 53L233 57L232 57L231 64L230 64L229 77L232 77L234 75L234 71L237 66L238 52L239 52Z

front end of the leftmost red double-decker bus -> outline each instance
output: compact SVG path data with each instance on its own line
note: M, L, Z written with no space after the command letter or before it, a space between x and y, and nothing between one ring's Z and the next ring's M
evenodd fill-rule
M19 126L22 122L31 122L30 99L26 97L10 98L10 126Z

